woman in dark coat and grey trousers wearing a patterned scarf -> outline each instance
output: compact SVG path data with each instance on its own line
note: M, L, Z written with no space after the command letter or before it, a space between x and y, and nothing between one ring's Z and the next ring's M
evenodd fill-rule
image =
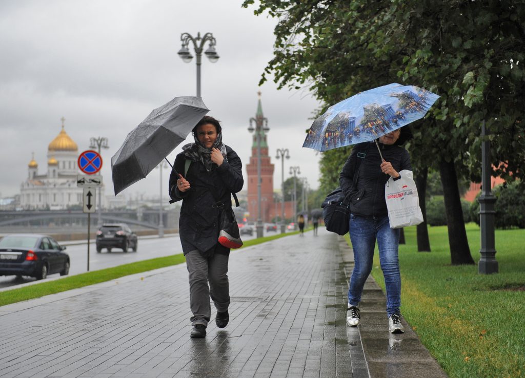
M232 211L232 192L240 191L244 181L240 158L222 143L222 128L215 118L204 116L193 136L195 143L185 145L175 158L179 174L172 171L169 189L174 201L182 200L179 234L190 280L191 338L203 338L211 318L210 297L217 309L217 327L224 328L229 321L230 250L218 243L218 219L220 211Z

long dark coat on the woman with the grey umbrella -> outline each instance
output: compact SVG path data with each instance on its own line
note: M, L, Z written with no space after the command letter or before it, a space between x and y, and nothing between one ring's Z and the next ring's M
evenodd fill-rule
M203 256L229 253L229 249L217 242L220 230L216 202L224 202L223 211L232 211L232 192L243 189L244 180L239 156L232 148L225 147L223 164L214 165L209 172L200 161L192 161L184 176L184 153L175 158L175 170L190 182L190 190L181 192L177 188L178 176L173 171L170 175L170 196L175 202L182 200L178 229L184 254L194 250Z

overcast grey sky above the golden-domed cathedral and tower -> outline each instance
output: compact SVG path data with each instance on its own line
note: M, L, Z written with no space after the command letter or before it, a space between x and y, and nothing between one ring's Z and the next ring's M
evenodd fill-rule
M275 19L241 8L241 0L2 0L0 2L0 192L19 193L31 152L38 173L47 169L47 147L66 132L89 149L90 137L104 136L102 175L106 195L113 193L111 156L125 136L155 107L175 96L196 94L195 60L184 63L177 51L183 32L213 33L220 59L203 58L202 96L222 121L223 141L246 166L251 154L249 118L255 116L257 92L268 118L268 143L280 187L276 149L286 147L285 163L317 188L318 160L302 148L304 130L319 104L307 91L277 91L273 82L258 87L272 58ZM192 137L191 141L193 140ZM188 139L190 141L190 139ZM170 155L173 161L180 152ZM246 177L246 169L243 169ZM164 185L169 171L164 170ZM246 189L246 185L245 185ZM158 196L159 171L123 191ZM165 191L164 191L165 193Z

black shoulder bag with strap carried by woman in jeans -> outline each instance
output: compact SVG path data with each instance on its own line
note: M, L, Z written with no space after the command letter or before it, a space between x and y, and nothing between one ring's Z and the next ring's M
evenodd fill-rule
M366 144L364 152L358 152L358 160L354 169L354 186L358 181L361 161L365 158L369 146L370 144ZM323 209L324 225L328 231L335 232L338 235L345 235L350 231L350 199L345 198L341 187L337 187L329 193L327 198L324 199L321 208Z

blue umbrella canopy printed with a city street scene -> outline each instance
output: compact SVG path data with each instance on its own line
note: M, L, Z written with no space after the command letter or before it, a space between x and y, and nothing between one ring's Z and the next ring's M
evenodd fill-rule
M423 118L438 98L425 89L397 83L360 92L313 121L302 146L326 151L374 141Z

